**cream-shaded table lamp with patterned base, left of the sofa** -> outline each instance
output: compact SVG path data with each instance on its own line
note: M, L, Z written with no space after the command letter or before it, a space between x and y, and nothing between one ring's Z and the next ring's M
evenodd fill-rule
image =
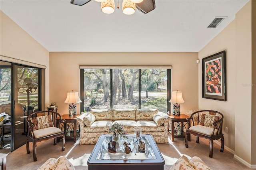
M78 92L72 90L67 94L67 98L64 103L68 103L68 113L69 116L76 115L76 103L81 103L82 101L79 99Z

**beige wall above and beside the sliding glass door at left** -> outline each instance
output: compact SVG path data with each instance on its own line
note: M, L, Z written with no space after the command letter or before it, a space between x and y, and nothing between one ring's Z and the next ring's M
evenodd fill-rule
M46 66L49 77L49 52L20 26L0 11L0 55ZM46 103L49 102L49 79L46 79Z

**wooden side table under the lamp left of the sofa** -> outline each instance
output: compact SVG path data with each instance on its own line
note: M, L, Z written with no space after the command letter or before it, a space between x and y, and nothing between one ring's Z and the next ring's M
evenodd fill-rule
M77 123L76 119L79 117L80 115L76 114L73 116L69 116L68 114L66 115L61 115L62 119L65 119L65 123L64 125L62 125L62 127L64 127L64 132L65 132L65 139L74 139L74 142L76 142L76 138L79 136L80 134L80 126ZM58 118L56 118L56 122L58 122ZM78 125L78 131L76 130L76 125ZM68 130L68 127L71 128L72 132L70 132L70 136L66 136L66 131Z

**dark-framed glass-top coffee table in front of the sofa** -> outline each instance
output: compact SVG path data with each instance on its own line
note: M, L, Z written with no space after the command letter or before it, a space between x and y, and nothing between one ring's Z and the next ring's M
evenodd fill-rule
M142 134L141 138L127 136L128 139L118 140L116 153L110 153L108 143L113 137L110 134L102 134L87 161L88 170L164 170L164 158L150 134ZM145 143L145 153L138 152L139 140ZM130 143L128 146L132 152L129 154L124 152L124 142Z

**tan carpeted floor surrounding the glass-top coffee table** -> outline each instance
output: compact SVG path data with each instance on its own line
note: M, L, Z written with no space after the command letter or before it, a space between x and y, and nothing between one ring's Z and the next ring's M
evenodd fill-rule
M170 137L169 137L170 138ZM193 157L199 156L212 170L246 170L249 169L233 157L234 155L224 150L220 152L220 146L214 144L213 158L209 158L209 142L200 138L200 144L191 136L189 148L185 147L183 138L174 138L169 144L158 144L158 148L165 160L164 170L169 170L176 160L183 154ZM30 142L30 154L26 152L26 145L21 146L7 156L7 170L36 170L48 158L58 158L65 155L74 165L76 170L87 170L87 160L94 148L94 144L80 145L79 138L76 143L66 140L66 149L61 151L62 142L53 145L53 140L38 142L37 161L33 161L32 143Z

